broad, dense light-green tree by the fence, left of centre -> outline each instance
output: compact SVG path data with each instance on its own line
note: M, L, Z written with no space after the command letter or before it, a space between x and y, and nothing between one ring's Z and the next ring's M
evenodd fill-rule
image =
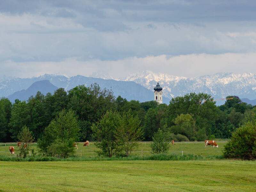
M79 125L74 111L63 109L45 128L37 143L40 152L45 155L66 158L74 154L73 143L78 135Z

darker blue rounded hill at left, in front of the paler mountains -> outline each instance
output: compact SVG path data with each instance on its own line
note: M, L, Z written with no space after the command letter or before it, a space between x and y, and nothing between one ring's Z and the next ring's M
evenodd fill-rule
M55 90L59 89L55 85L51 84L49 80L37 81L33 83L28 89L21 90L9 95L7 98L14 102L15 99L19 99L21 101L28 100L28 98L33 95L35 96L38 91L46 95L48 92L54 93Z

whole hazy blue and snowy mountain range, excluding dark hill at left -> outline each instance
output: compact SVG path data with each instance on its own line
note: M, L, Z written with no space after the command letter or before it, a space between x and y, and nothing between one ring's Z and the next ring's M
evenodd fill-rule
M100 77L99 74L94 76ZM70 90L78 84L90 86L94 82L101 88L112 89L115 96L121 95L127 100L139 100L140 102L153 100L153 88L159 82L163 87L164 103L169 103L170 99L176 96L183 96L190 92L204 92L211 94L214 99L222 99L228 95L236 95L244 98L247 103L256 99L256 75L252 73L234 74L217 73L200 77L180 77L166 75L163 73L153 73L144 71L131 74L125 78L109 79L110 76L102 78L64 75L49 75L33 78L15 78L0 82L0 97L8 97L14 92L28 89L36 81L49 80L56 87L63 87ZM218 101L217 105L225 101ZM255 101L252 101L252 104ZM256 103L255 103L256 104ZM254 105L255 105L254 104Z

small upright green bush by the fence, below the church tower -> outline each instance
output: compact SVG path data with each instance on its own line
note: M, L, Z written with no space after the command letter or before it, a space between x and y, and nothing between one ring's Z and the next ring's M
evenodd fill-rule
M153 135L153 142L150 145L151 152L156 153L167 153L170 148L170 136L167 130L158 129Z

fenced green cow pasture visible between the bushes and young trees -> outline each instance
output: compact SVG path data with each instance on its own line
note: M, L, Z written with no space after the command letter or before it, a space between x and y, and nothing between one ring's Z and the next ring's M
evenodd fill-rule
M194 154L194 155L202 155L202 156L221 155L224 145L227 141L216 141L216 142L219 145L219 148L212 148L211 146L204 148L204 142L202 141L201 142L175 142L175 145L170 147L168 154L182 155L182 151L183 151L183 154ZM151 155L151 153L149 152L150 143L151 141L139 142L139 147L131 155L141 156L141 150L143 150L143 156ZM18 149L16 143L6 143L6 146L4 145L4 143L0 143L0 156L13 156L9 152L10 146L13 146L15 150ZM31 147L37 150L36 144L32 144ZM76 150L76 156L95 157L97 156L97 153L96 153L97 150L99 149L95 147L93 142L90 142L90 145L88 147L83 147L83 143L79 142L78 149Z

